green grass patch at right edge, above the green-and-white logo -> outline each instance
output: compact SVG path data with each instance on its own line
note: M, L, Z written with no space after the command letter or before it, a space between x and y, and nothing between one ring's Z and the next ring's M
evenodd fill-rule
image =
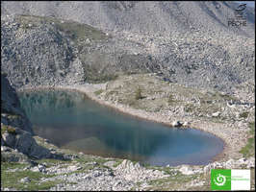
M244 157L255 156L255 122L248 124L250 130L248 132L247 144L240 151Z

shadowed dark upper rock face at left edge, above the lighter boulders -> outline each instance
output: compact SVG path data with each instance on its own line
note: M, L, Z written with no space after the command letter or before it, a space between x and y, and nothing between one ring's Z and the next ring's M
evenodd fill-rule
M20 103L15 90L1 74L1 123L4 125L12 125L21 130L34 134L32 125L25 115L25 112L20 108Z

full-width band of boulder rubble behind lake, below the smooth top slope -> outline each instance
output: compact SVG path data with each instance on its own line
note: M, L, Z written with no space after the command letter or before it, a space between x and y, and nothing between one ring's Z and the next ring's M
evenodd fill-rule
M106 33L55 17L1 17L2 70L14 87L100 83L120 74L233 92L255 84L254 37Z

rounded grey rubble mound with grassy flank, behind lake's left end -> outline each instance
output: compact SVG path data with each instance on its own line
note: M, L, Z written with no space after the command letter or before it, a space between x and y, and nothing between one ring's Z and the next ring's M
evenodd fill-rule
M118 72L160 68L146 56L126 53L122 44L114 46L116 40L103 32L72 21L7 17L2 20L1 36L2 69L14 87L96 83L114 79Z

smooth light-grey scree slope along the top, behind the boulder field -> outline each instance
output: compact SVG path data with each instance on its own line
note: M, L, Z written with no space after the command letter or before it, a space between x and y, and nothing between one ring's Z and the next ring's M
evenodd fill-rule
M234 17L234 2L186 1L95 1L95 2L1 2L2 15L30 14L54 16L89 24L101 30L140 34L169 35L171 32L208 34L241 34L253 36L254 9L247 7L246 28L230 28L228 17Z

